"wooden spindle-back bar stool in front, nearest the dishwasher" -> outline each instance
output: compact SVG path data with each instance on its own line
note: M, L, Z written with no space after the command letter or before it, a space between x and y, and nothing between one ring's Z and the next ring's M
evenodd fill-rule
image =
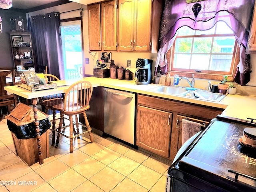
M58 146L60 141L60 134L66 138L70 139L70 153L73 152L73 138L76 138L82 134L89 133L90 141L94 142L92 138L92 129L90 128L86 110L90 108L89 102L92 96L92 84L88 81L80 80L72 84L68 90L66 90L64 99L62 103L56 104L52 106L53 109L60 111L60 123L57 130L58 136L56 139L56 146ZM64 118L64 114L69 117L70 120L70 132L69 135L66 135L61 132L62 120ZM83 114L85 125L78 122L77 115ZM76 116L76 122L73 122L73 116ZM76 124L76 130L74 129L74 124ZM66 128L67 126L65 126ZM79 127L81 127L82 132L79 132ZM86 127L87 130L83 130L82 128ZM74 135L73 135L74 132Z

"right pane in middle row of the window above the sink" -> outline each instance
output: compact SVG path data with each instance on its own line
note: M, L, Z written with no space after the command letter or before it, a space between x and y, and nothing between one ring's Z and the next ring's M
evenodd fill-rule
M235 37L215 37L213 53L230 53L234 52Z

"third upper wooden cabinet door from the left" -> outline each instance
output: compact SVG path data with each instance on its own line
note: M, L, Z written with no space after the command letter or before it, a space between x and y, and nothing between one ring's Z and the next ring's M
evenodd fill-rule
M133 51L134 0L119 1L119 37L120 51Z

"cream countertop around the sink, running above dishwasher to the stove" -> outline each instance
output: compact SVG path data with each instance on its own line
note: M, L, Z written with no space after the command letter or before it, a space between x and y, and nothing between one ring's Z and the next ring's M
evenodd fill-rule
M209 107L216 107L224 109L222 116L229 116L232 118L239 118L247 120L247 118L256 118L256 96L247 96L241 94L230 95L228 94L220 102L212 102L206 100L200 100L196 98L188 98L185 96L178 96L174 94L164 94L160 92L148 91L151 88L161 86L161 84L148 84L148 85L136 85L134 80L118 80L111 78L96 78L86 77L86 80L92 83L93 87L104 86L108 88L114 88L124 91L130 91L140 94L146 94L150 96L157 96L160 98L167 98L171 100L177 100L181 102L188 102L193 104L200 104Z

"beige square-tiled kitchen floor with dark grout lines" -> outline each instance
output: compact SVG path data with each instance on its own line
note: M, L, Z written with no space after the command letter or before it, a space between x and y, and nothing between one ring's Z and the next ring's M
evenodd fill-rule
M135 150L112 138L87 134L74 139L74 152L69 140L61 137L52 146L44 164L28 166L16 156L6 119L0 122L0 192L164 192L170 166L150 154ZM16 185L2 185L16 181ZM14 184L14 182L12 183Z

